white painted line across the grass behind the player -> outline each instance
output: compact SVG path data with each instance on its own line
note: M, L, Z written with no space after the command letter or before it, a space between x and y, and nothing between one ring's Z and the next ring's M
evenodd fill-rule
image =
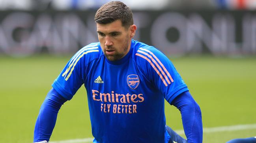
M234 130L246 130L246 129L256 129L256 124L247 124L247 125L233 125L233 126L222 126L222 127L212 127L204 128L204 133L211 132L224 132L224 131L234 131ZM178 134L184 134L183 130L176 130ZM93 138L84 138L84 139L70 139L64 141L50 141L50 143L90 143L93 141Z

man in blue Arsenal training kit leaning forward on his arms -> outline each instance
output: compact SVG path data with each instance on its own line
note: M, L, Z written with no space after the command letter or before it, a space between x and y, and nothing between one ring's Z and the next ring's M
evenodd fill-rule
M84 84L93 143L202 143L200 107L162 52L132 40L131 9L109 2L95 22L99 42L80 49L52 84L34 142L49 141L61 105ZM165 126L164 99L181 111L187 140Z

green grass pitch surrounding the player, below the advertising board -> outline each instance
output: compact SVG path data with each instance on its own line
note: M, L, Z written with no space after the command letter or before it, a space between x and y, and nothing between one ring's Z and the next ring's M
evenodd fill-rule
M41 103L70 56L0 57L0 142L32 143ZM202 110L207 128L256 123L256 58L170 58ZM181 116L166 103L166 123ZM204 143L256 136L256 129L204 133ZM84 87L62 106L51 141L92 138Z

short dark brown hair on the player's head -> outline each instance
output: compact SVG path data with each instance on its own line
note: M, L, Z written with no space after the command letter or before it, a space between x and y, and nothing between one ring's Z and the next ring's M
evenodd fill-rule
M115 20L121 20L122 26L129 28L133 25L133 13L123 2L113 1L99 8L94 20L98 24L109 24Z

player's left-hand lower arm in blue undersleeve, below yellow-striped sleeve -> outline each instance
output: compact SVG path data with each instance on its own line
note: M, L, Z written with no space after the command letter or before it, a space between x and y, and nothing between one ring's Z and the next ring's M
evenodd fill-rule
M36 120L34 142L49 141L60 107L67 101L54 88L47 94Z

